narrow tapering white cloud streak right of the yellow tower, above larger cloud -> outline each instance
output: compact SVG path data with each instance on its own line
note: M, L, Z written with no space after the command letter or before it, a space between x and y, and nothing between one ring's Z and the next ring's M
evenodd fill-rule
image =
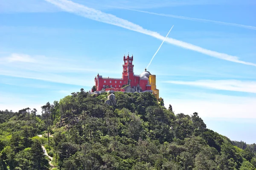
M242 91L256 93L256 81L241 81L241 80L197 80L189 81L166 81L172 84L192 85L203 88L211 88L226 91Z

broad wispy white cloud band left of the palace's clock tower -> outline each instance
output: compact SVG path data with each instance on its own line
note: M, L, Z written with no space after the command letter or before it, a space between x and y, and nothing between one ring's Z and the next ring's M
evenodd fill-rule
M105 74L119 73L119 71L106 71L99 63L91 61L90 58L84 57L82 61L77 62L75 59L30 56L28 54L11 54L8 57L0 57L0 75L70 85L91 86L94 84L94 77L91 74L95 74L96 76L98 72ZM97 68L95 68L96 64L98 65ZM89 72L90 75L88 75Z

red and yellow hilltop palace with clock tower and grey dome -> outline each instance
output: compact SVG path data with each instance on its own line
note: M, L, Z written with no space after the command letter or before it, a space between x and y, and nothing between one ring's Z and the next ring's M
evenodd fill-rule
M102 77L99 74L95 77L94 91L122 91L122 92L145 92L150 91L159 99L159 90L156 86L156 75L150 74L145 69L140 75L134 74L133 55L127 57L124 55L124 64L122 78Z

